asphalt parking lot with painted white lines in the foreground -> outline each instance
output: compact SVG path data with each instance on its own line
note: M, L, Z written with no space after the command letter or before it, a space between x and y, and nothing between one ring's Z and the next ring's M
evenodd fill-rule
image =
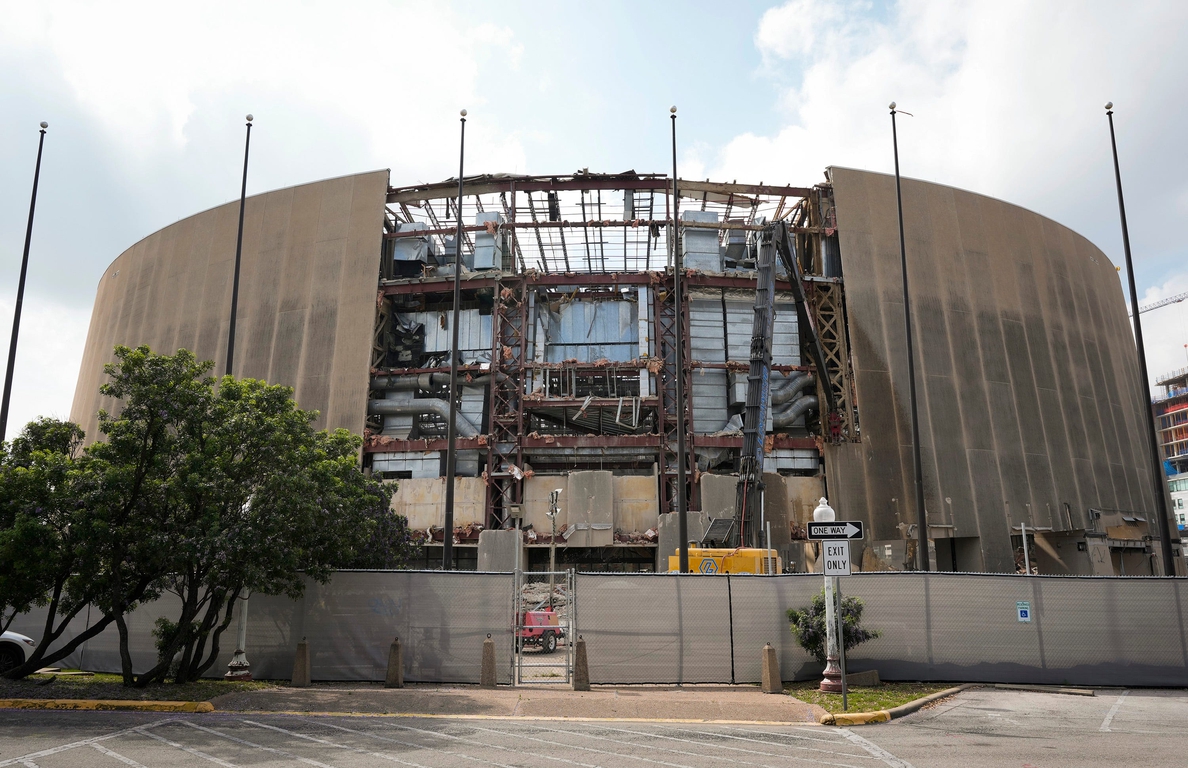
M0 712L0 767L1183 766L1188 692L971 690L862 728L215 712Z

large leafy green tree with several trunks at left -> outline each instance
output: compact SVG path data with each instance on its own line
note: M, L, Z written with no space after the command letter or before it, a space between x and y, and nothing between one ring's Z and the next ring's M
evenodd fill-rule
M315 432L317 414L298 409L290 389L216 382L210 366L184 350L160 355L116 347L100 391L118 408L100 411L101 442L72 459L82 433L46 426L30 440L58 453L18 449L18 441L7 452L0 471L10 474L21 468L13 455L57 464L52 477L26 471L24 484L13 486L24 490L8 495L15 501L0 499L0 515L13 521L0 517L0 546L11 550L19 536L37 534L36 525L49 524L49 508L61 510L55 524L64 531L44 540L52 550L46 567L29 571L24 592L12 590L14 599L0 606L7 612L0 618L48 606L38 648L8 676L62 659L115 623L126 685L163 680L171 669L177 681L192 680L214 663L233 606L247 592L299 597L307 578L324 583L335 567L366 561L377 547L387 565L407 561L407 521L387 511L390 489L360 472L358 436ZM48 489L55 504L33 503ZM33 527L30 533L10 509L40 510L42 517L21 523ZM15 564L0 573L14 586L18 577L25 578ZM6 594L7 584L0 583ZM181 608L158 622L158 663L135 675L126 616L166 591ZM50 653L88 604L100 618Z

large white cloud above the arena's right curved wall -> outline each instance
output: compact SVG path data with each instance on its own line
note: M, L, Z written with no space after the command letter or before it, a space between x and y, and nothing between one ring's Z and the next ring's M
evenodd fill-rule
M788 119L771 134L740 132L707 158L709 175L803 183L827 165L891 172L896 101L915 114L898 121L905 176L1026 206L1121 264L1102 109L1113 100L1139 287L1173 290L1188 283L1177 224L1188 210L1188 5L1116 11L1105 0L902 0L879 17L866 4L791 0L756 33L760 74L785 83ZM1177 367L1188 316L1176 313L1188 309L1158 311L1151 367Z

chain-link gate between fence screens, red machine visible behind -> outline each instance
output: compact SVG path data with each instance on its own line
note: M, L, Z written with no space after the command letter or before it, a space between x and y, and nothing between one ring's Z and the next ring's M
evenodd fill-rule
M514 685L569 684L574 669L574 572L517 572Z

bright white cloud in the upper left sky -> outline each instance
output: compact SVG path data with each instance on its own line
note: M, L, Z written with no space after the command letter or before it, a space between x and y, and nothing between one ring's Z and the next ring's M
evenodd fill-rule
M37 51L59 69L107 139L145 166L184 147L200 107L217 103L254 112L265 130L277 117L270 106L304 118L272 120L273 141L308 139L301 134L324 122L340 140L361 139L366 153L403 156L436 178L423 158L453 155L456 133L429 115L481 109L495 95L478 88L480 68L511 71L523 56L510 29L442 4L25 5L5 4L19 23L0 27L0 45ZM524 165L523 147L498 126L474 139L491 169Z

